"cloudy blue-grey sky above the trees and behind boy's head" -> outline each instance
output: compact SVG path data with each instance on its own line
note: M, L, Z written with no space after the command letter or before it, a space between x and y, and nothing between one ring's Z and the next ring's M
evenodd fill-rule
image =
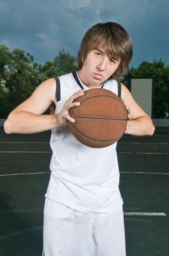
M154 59L169 64L168 12L168 0L0 0L0 44L43 63L63 48L76 56L90 26L115 21L133 40L130 67Z

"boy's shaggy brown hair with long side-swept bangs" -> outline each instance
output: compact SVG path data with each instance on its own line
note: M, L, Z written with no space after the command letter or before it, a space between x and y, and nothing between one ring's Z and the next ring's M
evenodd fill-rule
M79 48L79 69L82 69L90 50L95 48L103 48L111 58L120 59L119 67L109 79L119 78L125 73L133 56L133 47L129 34L121 25L114 22L97 23L87 30Z

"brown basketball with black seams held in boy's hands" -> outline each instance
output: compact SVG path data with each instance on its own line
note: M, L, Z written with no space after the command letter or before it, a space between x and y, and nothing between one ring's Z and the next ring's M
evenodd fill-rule
M80 105L69 110L74 137L86 146L103 148L117 142L127 127L127 110L122 99L107 89L89 89L75 99Z

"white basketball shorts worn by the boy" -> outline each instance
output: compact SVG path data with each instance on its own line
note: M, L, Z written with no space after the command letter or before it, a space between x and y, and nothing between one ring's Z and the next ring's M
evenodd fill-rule
M44 256L125 256L122 208L83 213L46 198Z

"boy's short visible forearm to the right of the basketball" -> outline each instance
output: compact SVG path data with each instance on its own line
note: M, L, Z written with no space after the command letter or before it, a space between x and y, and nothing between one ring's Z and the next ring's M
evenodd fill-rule
M128 135L153 135L154 124L151 118L141 116L127 121L127 129L125 131Z

